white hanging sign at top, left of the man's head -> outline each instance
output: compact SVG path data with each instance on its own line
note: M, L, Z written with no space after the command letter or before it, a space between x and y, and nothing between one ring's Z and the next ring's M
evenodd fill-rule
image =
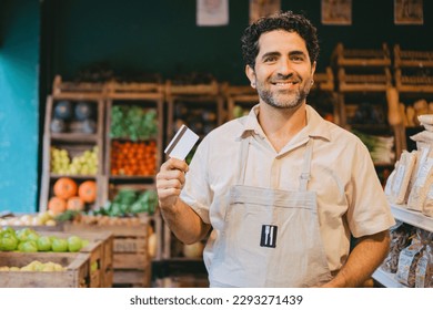
M197 0L197 24L229 24L229 0Z

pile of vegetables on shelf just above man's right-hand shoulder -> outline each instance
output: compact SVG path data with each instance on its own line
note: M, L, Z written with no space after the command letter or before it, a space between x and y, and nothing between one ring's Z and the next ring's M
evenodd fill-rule
M352 131L369 148L375 164L393 164L395 161L394 137L370 135L359 131Z

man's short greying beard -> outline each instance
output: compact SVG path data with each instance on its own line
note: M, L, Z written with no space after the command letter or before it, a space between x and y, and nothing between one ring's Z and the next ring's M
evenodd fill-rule
M271 91L264 86L264 83L259 82L256 83L256 90L259 96L270 106L293 110L299 107L306 100L312 85L311 81L311 78L306 79L303 85L302 81L300 81L301 86L298 90L290 92Z

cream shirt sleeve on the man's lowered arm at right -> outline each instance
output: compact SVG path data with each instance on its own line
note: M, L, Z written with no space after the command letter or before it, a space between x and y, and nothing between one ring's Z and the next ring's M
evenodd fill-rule
M348 223L355 238L389 229L395 224L373 161L365 145L356 145L351 183Z

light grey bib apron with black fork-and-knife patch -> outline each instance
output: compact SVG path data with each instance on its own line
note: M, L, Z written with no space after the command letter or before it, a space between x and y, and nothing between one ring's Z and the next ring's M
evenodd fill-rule
M210 264L211 287L312 287L331 280L309 192L313 140L306 143L299 190L245 186L250 138L242 140L238 185Z

